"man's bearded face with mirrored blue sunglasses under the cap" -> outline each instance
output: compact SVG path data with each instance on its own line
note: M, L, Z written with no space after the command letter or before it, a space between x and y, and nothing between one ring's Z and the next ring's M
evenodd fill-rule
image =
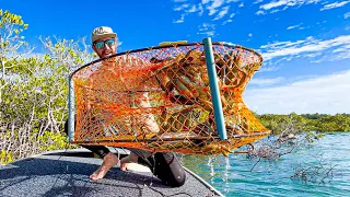
M116 54L116 39L113 37L104 37L93 43L92 49L100 58L104 58Z

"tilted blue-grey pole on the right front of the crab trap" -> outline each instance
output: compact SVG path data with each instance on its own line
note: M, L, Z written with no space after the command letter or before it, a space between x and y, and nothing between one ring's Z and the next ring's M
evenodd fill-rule
M205 43L206 62L207 62L208 77L209 77L209 83L210 83L211 99L214 107L214 118L217 123L217 130L219 132L220 139L226 140L228 132L225 127L225 120L223 117L211 38L207 37L202 42Z

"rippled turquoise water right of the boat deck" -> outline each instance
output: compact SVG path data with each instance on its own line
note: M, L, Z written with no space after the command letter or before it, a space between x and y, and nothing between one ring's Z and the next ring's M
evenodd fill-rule
M256 161L245 154L184 158L185 166L225 196L350 196L350 132L327 134L312 147L278 161L260 161L250 171ZM295 167L307 166L332 166L332 176L322 183L327 171L319 169L313 182L291 178Z

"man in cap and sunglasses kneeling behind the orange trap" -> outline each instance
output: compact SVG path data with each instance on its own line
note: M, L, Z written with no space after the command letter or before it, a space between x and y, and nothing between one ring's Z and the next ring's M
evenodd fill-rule
M101 26L92 32L92 48L100 58L104 58L116 54L117 35L110 27ZM133 63L137 61L133 61ZM107 65L107 63L106 63ZM137 65L136 65L137 66ZM122 69L122 68L119 68ZM96 82L97 83L97 82ZM142 101L142 106L148 106L149 103ZM159 131L159 127L153 119L153 116L144 120L145 127L151 131ZM66 131L68 130L66 123ZM90 176L91 179L101 179L106 173L115 166L119 160L109 152L108 148L103 146L82 146L92 152L96 153L103 159L102 165ZM130 163L141 163L150 167L155 176L158 176L164 184L177 187L184 185L186 181L186 173L176 157L173 153L158 152L152 155L151 152L138 149L130 149L130 154L120 160L120 170L128 170Z

